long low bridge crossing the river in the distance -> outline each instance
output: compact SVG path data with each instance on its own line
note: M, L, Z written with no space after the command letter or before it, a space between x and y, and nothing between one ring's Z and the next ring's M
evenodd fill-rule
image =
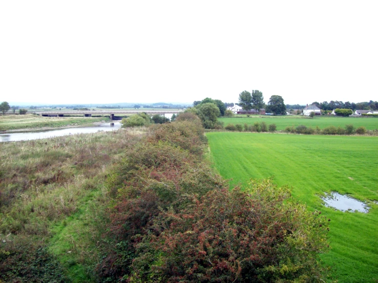
M138 113L146 113L146 114L178 114L180 111L178 110L153 110L153 111L148 111L148 110L124 110L124 111L39 111L39 112L33 112L34 114L37 114L39 116L43 117L64 117L65 115L83 115L84 117L92 117L92 115L109 115L110 119L114 119L115 114L138 114Z

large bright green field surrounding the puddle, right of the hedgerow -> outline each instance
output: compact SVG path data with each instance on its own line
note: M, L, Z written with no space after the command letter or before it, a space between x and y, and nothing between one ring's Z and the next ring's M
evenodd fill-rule
M244 120L228 119L230 122ZM272 121L279 119L286 121L287 118L272 118ZM365 126L370 120L378 122L376 119L355 119L363 121ZM296 119L290 121L294 123ZM314 121L322 121L321 125L325 126L328 121L330 124L332 121L352 123L350 121L354 119L319 118ZM281 127L283 125L281 123ZM378 205L371 202L378 201L376 137L252 133L207 133L206 136L211 150L209 157L223 177L233 178L231 184L246 184L250 178L274 176L278 185L292 186L293 197L306 203L311 210L320 209L331 219L328 234L331 250L323 254L322 259L331 266L332 279L344 283L376 282ZM366 201L371 209L365 214L324 207L318 195L330 191Z

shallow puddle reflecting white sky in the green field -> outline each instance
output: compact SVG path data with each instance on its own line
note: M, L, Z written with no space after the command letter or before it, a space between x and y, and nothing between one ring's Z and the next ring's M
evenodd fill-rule
M361 201L334 191L330 194L326 194L326 197L323 197L321 199L325 202L325 206L333 207L341 211L359 211L368 213L370 208Z

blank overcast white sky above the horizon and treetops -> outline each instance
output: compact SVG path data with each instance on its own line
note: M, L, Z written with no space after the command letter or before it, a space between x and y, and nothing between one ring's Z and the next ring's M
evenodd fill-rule
M0 1L0 101L378 100L378 1Z

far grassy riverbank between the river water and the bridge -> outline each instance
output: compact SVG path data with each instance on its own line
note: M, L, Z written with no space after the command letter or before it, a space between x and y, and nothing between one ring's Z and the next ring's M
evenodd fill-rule
M41 117L32 114L9 115L0 117L0 134L98 125L106 121L110 119L106 117Z

